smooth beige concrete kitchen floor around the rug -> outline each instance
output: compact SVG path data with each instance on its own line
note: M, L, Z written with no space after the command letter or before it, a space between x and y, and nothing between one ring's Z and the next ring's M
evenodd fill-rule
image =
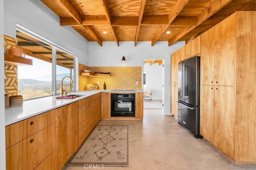
M105 166L104 170L256 170L256 164L234 164L203 139L195 139L175 117L162 115L161 109L144 109L142 121L99 124L129 126L129 167Z

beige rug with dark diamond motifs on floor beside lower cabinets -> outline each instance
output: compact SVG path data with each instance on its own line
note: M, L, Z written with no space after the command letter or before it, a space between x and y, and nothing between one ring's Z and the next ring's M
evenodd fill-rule
M128 166L128 126L97 125L68 166Z

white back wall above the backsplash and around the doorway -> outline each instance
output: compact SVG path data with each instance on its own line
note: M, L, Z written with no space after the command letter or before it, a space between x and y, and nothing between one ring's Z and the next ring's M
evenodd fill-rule
M170 112L170 55L184 46L185 42L176 42L168 47L167 41L158 41L151 47L150 41L138 42L134 47L133 41L103 42L102 47L96 42L88 42L88 65L89 66L141 66L143 70L143 59L164 59L164 92L163 104L164 115ZM122 62L122 56L126 56L126 62ZM143 75L143 72L142 72ZM142 77L143 78L143 77Z

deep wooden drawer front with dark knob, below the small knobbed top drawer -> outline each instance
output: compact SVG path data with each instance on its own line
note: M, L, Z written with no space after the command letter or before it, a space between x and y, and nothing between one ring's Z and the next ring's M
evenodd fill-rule
M34 169L49 154L48 128L44 128L27 139L28 169Z

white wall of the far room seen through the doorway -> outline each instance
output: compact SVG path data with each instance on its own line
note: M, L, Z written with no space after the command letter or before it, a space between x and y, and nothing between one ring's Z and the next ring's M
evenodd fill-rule
M143 71L146 72L146 88L151 90L153 100L162 100L162 66L158 63L143 64Z

